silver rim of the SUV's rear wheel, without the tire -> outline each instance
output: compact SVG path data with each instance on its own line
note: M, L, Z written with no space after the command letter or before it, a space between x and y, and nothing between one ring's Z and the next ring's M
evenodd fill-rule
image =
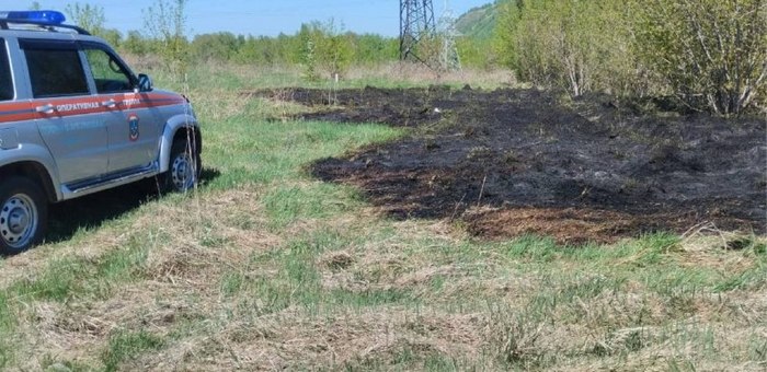
M38 218L30 196L16 194L8 198L0 209L0 234L5 245L22 248L32 243Z

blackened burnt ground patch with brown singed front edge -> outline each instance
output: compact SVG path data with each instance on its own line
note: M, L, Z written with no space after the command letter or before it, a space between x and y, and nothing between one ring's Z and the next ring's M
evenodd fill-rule
M648 232L767 230L764 118L724 119L536 90L262 91L305 119L415 128L310 172L399 218L463 221L485 237L581 244ZM248 94L253 94L248 93Z

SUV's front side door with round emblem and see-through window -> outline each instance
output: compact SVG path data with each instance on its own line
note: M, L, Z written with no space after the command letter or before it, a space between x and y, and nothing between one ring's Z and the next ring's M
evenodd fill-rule
M158 156L162 130L160 114L134 92L136 79L125 63L105 45L82 44L95 90L118 116L106 121L110 148L108 172L149 166Z

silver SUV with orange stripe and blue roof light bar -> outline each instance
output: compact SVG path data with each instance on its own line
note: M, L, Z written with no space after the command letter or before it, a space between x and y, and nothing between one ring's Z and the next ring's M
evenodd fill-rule
M158 177L196 186L202 137L184 96L156 90L56 11L0 11L0 253L44 236L48 205Z

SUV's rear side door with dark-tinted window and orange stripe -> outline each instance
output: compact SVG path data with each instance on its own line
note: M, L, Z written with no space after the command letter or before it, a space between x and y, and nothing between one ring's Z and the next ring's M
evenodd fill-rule
M108 153L104 113L92 95L85 61L73 40L20 39L28 73L36 124L61 183L106 173Z

